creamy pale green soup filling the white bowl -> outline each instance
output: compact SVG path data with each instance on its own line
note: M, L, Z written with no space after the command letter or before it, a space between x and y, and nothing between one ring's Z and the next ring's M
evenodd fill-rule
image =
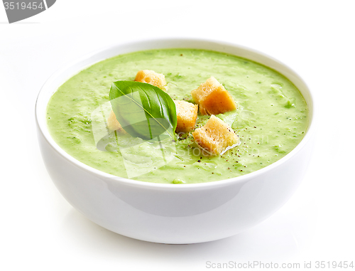
M214 76L238 108L217 115L231 125L241 144L219 156L197 152L192 134L175 143L175 158L140 181L164 184L202 183L249 174L272 164L300 143L307 129L308 108L293 83L280 73L251 60L195 49L163 49L118 55L82 70L61 85L48 103L48 129L58 145L75 159L100 171L127 178L119 149L103 152L94 140L92 112L109 102L116 80L134 80L138 70L163 73L173 100L192 102L191 90ZM207 122L200 116L197 125ZM143 157L149 149L135 150ZM139 169L146 162L133 161ZM142 165L140 165L142 163Z

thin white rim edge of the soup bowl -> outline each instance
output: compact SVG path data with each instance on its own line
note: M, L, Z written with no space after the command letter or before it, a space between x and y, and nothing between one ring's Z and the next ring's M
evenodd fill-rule
M50 136L50 132L48 131L48 126L47 122L45 122L45 117L41 115L41 112L39 112L38 109L38 103L41 101L41 97L43 96L43 93L45 90L48 88L47 86L50 85L51 81L53 81L55 78L57 78L60 74L62 74L65 70L68 70L72 66L81 63L84 60L89 59L90 57L94 55L98 55L99 53L104 53L105 51L108 51L109 49L112 48L119 48L119 47L124 47L124 46L134 46L138 43L147 43L147 42L155 42L155 43L161 43L161 42L173 42L173 43L179 43L179 42L203 42L203 43L218 43L219 45L222 46L231 46L234 48L239 48L244 51L249 51L250 53L256 54L256 55L261 55L264 58L268 58L269 60L272 60L275 63L278 63L279 65L282 65L284 68L288 69L295 77L297 77L298 80L302 84L305 85L305 88L308 91L308 95L310 98L310 102L307 102L308 108L309 108L309 115L310 115L310 120L308 124L308 128L305 132L305 136L302 138L301 142L297 144L297 146L288 154L283 156L283 158L279 159L278 161L275 161L273 164L270 164L268 166L263 167L262 169L258 169L256 171L253 171L249 174L245 174L242 176L236 176L234 178L230 179L222 179L220 181L210 181L207 183L197 183L197 184L183 184L183 185L176 185L176 184L160 184L160 183L152 183L148 181L137 181L133 179L126 179L124 177L120 176L115 176L109 173L106 173L104 171L100 171L99 169L94 169L92 166L88 166L87 164L82 163L81 161L75 159L74 157L70 156L70 154L67 154L55 141L54 139ZM158 46L157 46L158 47ZM173 47L170 47L173 48ZM183 47L176 47L176 48L183 48ZM187 48L187 47L185 47ZM134 51L132 51L134 52ZM117 54L119 55L119 54ZM238 56L238 55L236 55ZM114 57L111 56L111 57ZM89 66L94 65L95 63L98 63L102 60L105 60L107 58L103 58L101 60L98 60L96 62L90 63ZM258 63L257 61L252 60L253 62ZM264 65L263 63L260 63L261 65ZM85 66L84 68L81 68L81 70L84 70L85 68L88 68L89 66ZM81 70L77 70L76 73L80 73ZM278 72L280 73L280 72ZM283 74L283 73L281 73ZM75 73L72 73L71 76L74 76ZM283 75L285 76L285 75ZM285 76L288 78L287 76ZM67 78L69 79L69 78ZM288 78L288 80L290 80ZM293 82L292 80L290 80ZM64 82L63 82L64 83ZM57 91L57 90L55 90ZM55 92L54 91L54 92ZM53 94L54 94L53 92ZM52 95L53 95L52 94ZM311 106L310 106L311 104ZM48 106L48 101L45 104L45 108ZM46 111L45 111L46 112ZM40 119L41 118L41 119ZM266 172L273 171L273 169L277 168L281 164L284 164L286 161L291 159L295 154L300 152L300 150L305 147L305 144L310 141L312 135L315 132L315 100L314 100L314 95L312 95L312 91L310 90L310 87L308 87L307 83L305 83L305 80L300 77L298 73L295 72L292 68L290 68L288 65L285 65L285 63L280 62L280 60L277 60L273 58L271 55L267 55L266 53L262 53L261 51L254 50L253 48L249 48L246 46L241 46L236 43L231 43L231 42L226 42L226 41L219 41L219 40L213 40L213 39L206 39L206 38L145 38L145 39L137 39L135 41L129 41L125 43L113 43L109 46L105 46L104 48L100 48L96 51L92 51L91 53L87 53L85 55L82 55L80 58L76 58L75 60L71 61L70 63L67 63L66 65L62 65L61 68L56 70L48 80L45 81L43 86L40 88L40 91L38 93L37 99L35 101L35 122L38 127L38 132L42 134L43 138L45 139L46 142L50 145L51 148L55 150L62 158L66 159L69 161L71 164L74 164L75 166L79 167L80 169L84 169L84 171L87 171L91 174L95 174L97 176L103 177L105 179L110 179L113 181L119 181L122 184L126 184L129 186L139 186L141 188L154 188L154 189L163 189L163 190L173 190L173 191L186 191L186 190L195 190L195 189L203 189L203 188L216 188L216 187L221 187L221 186L228 186L230 184L235 184L243 181L248 181L250 179L254 179L257 176L261 176L263 174L266 174Z

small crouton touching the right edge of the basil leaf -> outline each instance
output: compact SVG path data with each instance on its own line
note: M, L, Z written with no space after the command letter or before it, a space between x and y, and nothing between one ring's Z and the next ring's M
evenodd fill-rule
M176 106L176 115L178 116L178 125L175 132L190 132L195 128L198 105L191 102L174 101Z

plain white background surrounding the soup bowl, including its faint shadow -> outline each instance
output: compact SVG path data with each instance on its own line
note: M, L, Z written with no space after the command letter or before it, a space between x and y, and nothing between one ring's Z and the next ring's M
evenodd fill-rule
M354 11L354 1L58 0L9 24L0 4L0 270L206 270L207 261L248 260L355 265ZM254 48L296 70L315 93L317 143L307 175L255 228L196 245L141 242L87 220L50 180L35 131L41 85L85 53L155 37Z

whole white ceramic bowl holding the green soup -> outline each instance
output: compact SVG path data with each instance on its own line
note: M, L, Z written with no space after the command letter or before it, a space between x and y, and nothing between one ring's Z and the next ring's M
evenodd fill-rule
M207 184L153 184L93 169L64 152L46 124L48 100L80 70L114 55L158 48L200 48L239 55L277 70L302 92L310 124L285 157L251 174ZM305 82L268 55L219 41L160 39L110 46L54 73L38 95L35 114L45 166L58 190L78 211L104 228L156 243L200 243L226 238L265 220L295 192L312 152L314 107Z

